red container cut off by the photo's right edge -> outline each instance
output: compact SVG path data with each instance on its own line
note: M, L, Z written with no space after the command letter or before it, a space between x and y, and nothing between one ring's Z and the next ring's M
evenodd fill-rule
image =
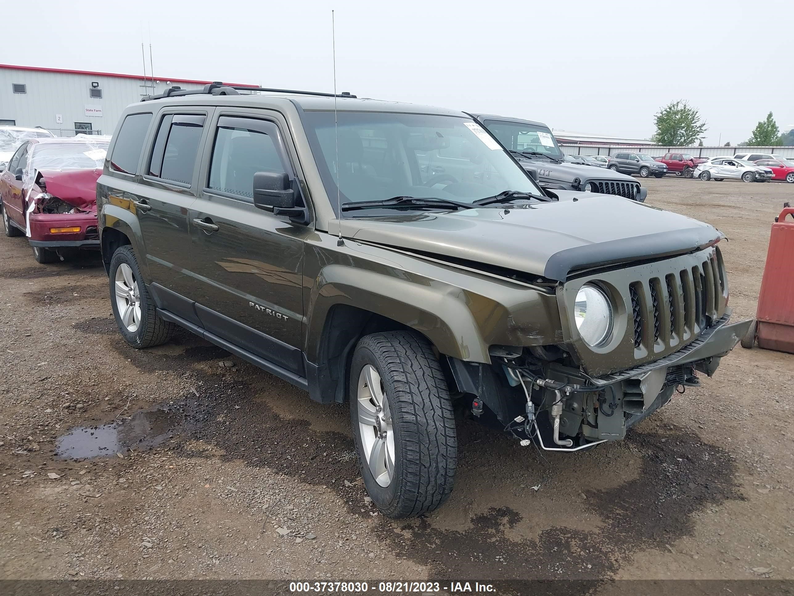
M794 207L785 207L772 225L756 327L759 347L794 354Z

